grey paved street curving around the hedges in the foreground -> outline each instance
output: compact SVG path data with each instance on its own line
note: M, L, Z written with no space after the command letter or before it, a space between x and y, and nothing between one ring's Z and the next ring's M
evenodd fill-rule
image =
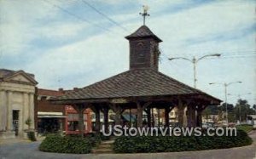
M46 153L38 150L39 142L11 142L0 144L0 159L45 159L45 158L92 158L92 159L112 159L112 158L172 158L172 159L256 159L256 131L250 134L253 138L253 145L241 148L231 148L224 150L201 150L190 152L154 153L154 154L56 154Z

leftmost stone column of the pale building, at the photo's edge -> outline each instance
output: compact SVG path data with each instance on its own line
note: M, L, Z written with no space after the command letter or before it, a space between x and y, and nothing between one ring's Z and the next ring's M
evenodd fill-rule
M1 90L0 91L0 131L6 130L7 127L7 94L6 91Z

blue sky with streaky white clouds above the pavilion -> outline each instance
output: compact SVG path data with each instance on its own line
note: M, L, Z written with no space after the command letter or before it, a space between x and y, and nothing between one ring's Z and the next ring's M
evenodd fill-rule
M228 103L256 103L252 0L0 0L0 68L33 73L39 88L82 88L129 69L125 36L146 25L163 40L160 71Z

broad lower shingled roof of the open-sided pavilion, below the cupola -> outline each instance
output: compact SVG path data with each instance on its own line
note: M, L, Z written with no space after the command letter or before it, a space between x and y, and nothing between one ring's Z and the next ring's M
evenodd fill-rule
M57 99L106 99L179 94L205 93L178 82L172 77L167 77L159 71L137 69L125 71L77 91L71 91Z

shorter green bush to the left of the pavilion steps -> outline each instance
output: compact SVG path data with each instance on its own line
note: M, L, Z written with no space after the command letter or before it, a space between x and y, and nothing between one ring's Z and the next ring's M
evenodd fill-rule
M93 143L89 138L49 134L39 145L39 150L57 153L90 153Z

